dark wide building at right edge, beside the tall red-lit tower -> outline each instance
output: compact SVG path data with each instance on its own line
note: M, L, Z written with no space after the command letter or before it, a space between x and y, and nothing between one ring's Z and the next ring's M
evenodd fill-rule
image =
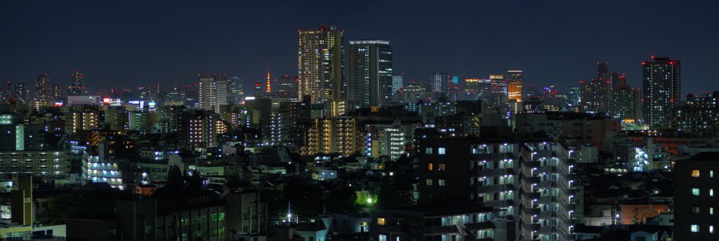
M687 95L672 128L691 136L719 136L719 91Z

